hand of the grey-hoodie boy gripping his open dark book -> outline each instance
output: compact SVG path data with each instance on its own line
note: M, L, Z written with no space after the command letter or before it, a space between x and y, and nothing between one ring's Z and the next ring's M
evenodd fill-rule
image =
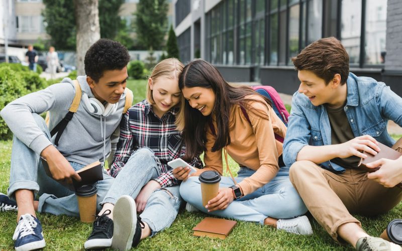
M46 147L41 156L47 161L49 171L55 180L65 180L68 184L72 183L71 178L81 181L81 177L71 167L64 156L53 146Z

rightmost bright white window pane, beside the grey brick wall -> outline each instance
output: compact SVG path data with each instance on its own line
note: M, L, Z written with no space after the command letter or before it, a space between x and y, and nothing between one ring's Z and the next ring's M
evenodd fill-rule
M386 0L366 0L364 63L385 63Z

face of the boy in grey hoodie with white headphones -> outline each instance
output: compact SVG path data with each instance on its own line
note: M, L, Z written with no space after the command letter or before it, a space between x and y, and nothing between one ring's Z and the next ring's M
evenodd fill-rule
M97 100L114 104L119 102L126 88L127 79L127 67L124 67L121 70L104 71L103 76L97 82L87 76L86 82Z

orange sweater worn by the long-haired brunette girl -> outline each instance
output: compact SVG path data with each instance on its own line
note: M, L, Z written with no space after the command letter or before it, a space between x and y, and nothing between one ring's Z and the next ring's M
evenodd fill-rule
M250 95L248 98L263 100L258 95ZM244 195L254 192L274 178L279 170L278 156L282 154L282 143L275 140L274 132L285 137L286 126L276 115L275 111L257 102L249 101L253 109L267 114L264 119L247 109L250 122L244 116L239 105L233 105L229 116L230 145L226 146L228 154L240 165L256 170L248 178L238 183ZM213 125L217 132L216 120ZM195 175L207 170L215 170L223 173L222 149L212 152L211 149L216 141L216 136L211 132L207 124L207 151L204 154L205 167ZM226 166L226 164L225 164Z

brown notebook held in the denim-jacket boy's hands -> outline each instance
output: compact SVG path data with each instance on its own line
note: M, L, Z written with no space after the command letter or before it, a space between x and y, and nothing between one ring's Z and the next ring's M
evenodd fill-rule
M369 173L372 173L372 172L377 171L380 168L379 167L368 168L368 167L366 167L367 163L371 163L371 162L377 161L379 159L396 160L397 158L402 156L402 154L400 154L399 152L397 152L397 151L393 150L392 148L387 147L384 144L381 144L379 142L378 142L378 147L381 149L381 151L379 151L376 155L372 155L370 153L363 152L363 154L367 155L367 158L365 158L365 159L361 158L359 161L359 164L357 166ZM399 183L396 186L399 188L402 188L402 183Z

